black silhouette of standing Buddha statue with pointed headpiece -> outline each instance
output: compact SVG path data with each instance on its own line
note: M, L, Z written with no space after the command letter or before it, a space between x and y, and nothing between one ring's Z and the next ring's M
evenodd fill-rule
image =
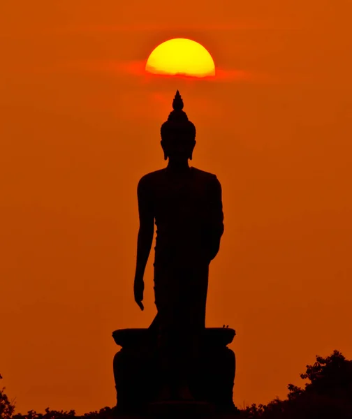
M169 367L166 376L170 381L161 399L192 399L186 373L205 329L209 265L223 234L221 184L216 175L189 166L196 127L182 109L177 90L173 111L161 126L161 147L168 166L148 173L138 183L140 229L134 293L143 309L143 275L155 221L157 315L150 329L159 333L161 358L164 368Z

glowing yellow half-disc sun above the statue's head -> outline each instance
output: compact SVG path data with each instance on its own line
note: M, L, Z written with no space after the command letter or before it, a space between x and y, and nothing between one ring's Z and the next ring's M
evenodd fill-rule
M215 64L210 53L196 41L175 38L158 45L149 55L145 70L153 74L215 75Z

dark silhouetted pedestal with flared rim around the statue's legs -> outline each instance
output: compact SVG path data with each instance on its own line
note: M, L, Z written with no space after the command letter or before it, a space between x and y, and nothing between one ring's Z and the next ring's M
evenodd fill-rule
M115 330L112 337L122 346L114 358L117 390L117 413L152 417L199 418L214 413L235 413L233 384L235 354L227 345L235 330L206 328L198 365L195 365L190 388L195 402L156 402L160 389L156 335L149 329ZM208 415L209 413L209 415ZM175 416L175 417L176 417Z

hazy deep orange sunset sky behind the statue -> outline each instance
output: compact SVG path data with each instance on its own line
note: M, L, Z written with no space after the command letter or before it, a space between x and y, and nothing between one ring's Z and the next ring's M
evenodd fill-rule
M347 0L1 1L0 373L17 411L115 404L111 333L133 301L136 187L165 165L176 89L193 166L223 186L207 326L235 328L235 404L285 397L316 354L352 358L352 34ZM145 78L191 38L224 75ZM303 382L302 382L303 384Z

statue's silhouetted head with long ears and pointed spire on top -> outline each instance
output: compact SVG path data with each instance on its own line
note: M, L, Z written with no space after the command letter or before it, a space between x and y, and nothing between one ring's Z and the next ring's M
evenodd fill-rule
M192 160L192 153L196 145L196 127L189 121L183 109L183 101L176 91L173 100L173 111L168 120L161 126L161 147L164 159L177 162Z

